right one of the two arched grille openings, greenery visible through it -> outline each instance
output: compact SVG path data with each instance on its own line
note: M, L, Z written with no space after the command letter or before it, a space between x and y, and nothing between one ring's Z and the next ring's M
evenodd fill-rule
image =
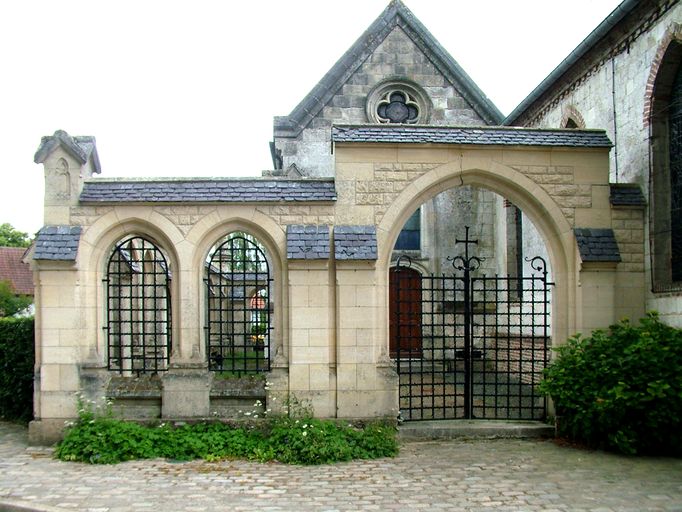
M209 369L269 371L272 277L262 244L243 232L219 241L206 259L205 284Z

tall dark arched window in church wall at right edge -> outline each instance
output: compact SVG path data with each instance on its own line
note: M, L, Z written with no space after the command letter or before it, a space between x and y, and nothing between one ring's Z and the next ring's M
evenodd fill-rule
M682 289L682 43L672 41L656 74L651 109L653 289Z

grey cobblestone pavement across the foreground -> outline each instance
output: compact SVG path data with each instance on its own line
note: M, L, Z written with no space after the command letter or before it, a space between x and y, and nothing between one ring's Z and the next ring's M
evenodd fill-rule
M4 504L4 505L3 505ZM0 510L682 511L682 459L542 440L405 442L395 459L328 466L165 460L91 466L0 423ZM3 508L4 507L4 508Z

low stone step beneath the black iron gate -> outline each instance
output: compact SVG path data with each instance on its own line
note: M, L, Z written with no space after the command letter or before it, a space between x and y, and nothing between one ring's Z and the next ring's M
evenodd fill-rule
M546 438L554 437L554 426L539 421L408 421L398 427L398 437L403 440Z

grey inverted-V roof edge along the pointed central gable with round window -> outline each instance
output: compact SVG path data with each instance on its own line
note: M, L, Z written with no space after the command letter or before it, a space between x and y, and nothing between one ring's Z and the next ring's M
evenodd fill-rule
M392 0L294 110L288 116L275 118L276 134L288 132L288 135L293 137L300 134L396 26L400 27L429 57L485 122L489 124L502 122L504 119L502 113L431 32L401 0Z

